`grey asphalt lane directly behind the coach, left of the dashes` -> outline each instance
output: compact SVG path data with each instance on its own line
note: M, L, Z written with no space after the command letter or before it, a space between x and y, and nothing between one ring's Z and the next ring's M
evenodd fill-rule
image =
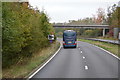
M85 78L84 65L77 48L62 48L33 78Z

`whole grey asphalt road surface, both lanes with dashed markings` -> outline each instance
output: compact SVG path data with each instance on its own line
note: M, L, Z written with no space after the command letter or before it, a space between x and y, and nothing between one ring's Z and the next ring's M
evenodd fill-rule
M78 41L77 48L62 47L33 78L118 78L118 62L105 51Z

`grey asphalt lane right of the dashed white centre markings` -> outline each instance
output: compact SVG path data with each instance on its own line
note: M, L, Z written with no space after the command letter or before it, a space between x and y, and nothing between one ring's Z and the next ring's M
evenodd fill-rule
M78 41L78 45L86 57L86 64L90 68L87 73L88 77L118 78L119 60L117 58L89 43Z

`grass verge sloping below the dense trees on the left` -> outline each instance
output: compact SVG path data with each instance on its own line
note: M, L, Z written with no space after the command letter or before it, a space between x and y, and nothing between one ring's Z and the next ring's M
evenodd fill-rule
M24 78L35 68L43 64L59 48L59 42L54 42L49 47L35 53L31 58L23 59L22 63L3 69L3 78Z

